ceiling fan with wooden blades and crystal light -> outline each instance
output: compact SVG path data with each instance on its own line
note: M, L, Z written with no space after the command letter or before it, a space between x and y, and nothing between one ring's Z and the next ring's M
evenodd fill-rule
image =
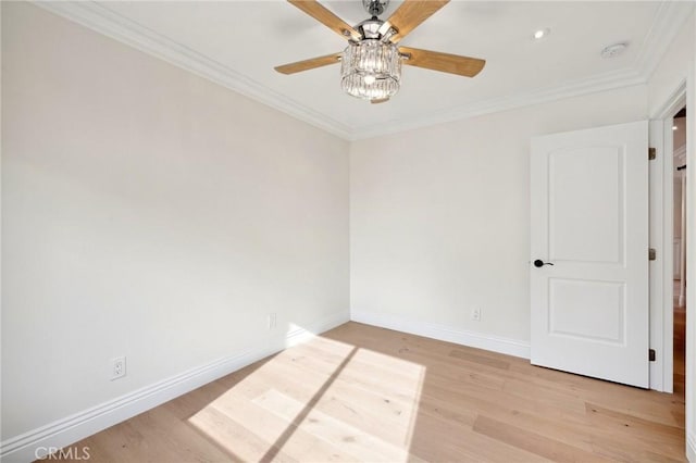
M400 47L399 41L432 16L449 0L405 0L382 21L389 0L362 0L370 18L349 26L316 0L288 0L320 23L348 40L339 53L312 58L275 67L282 74L295 74L328 64L341 63L340 85L344 91L372 103L388 101L399 91L401 63L444 73L474 77L483 70L485 60Z

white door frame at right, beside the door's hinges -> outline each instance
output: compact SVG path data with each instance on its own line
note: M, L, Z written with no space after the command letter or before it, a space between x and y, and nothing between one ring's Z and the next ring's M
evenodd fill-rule
M686 79L650 117L649 143L657 158L649 164L650 182L650 248L657 260L650 262L650 348L656 351L650 362L650 389L673 391L674 316L673 316L673 255L674 239L674 162L673 116L686 104Z

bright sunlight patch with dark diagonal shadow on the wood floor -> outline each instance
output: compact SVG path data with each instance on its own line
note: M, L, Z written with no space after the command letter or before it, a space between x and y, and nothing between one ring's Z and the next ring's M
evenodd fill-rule
M412 461L424 377L417 363L318 336L250 368L188 423L245 461Z

